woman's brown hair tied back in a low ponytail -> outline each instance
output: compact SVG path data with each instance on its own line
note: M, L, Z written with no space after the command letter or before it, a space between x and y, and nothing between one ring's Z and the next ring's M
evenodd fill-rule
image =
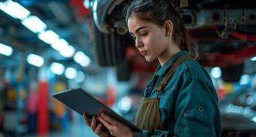
M171 0L135 0L125 7L125 21L131 14L136 14L143 21L156 23L162 27L164 22L169 20L173 23L173 42L180 50L188 51L191 58L198 57L198 47L191 43L189 32L187 32L184 22L179 12L173 6Z

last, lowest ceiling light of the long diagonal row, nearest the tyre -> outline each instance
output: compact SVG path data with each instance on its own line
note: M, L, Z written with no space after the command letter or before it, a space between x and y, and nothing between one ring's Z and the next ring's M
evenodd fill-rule
M89 66L91 62L90 58L82 51L76 52L76 54L74 55L74 61L78 64L81 64L81 66L83 67Z

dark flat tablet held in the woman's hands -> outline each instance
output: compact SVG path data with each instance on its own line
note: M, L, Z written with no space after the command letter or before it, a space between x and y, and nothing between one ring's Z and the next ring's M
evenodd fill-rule
M68 108L78 112L83 116L83 113L86 111L88 119L92 119L92 116L96 116L97 114L101 114L105 112L112 118L124 123L134 132L141 132L141 130L133 125L131 122L127 121L126 119L122 118L122 116L116 114L113 110L111 110L107 105L100 103L97 99L89 95L85 90L82 88L72 88L70 90L65 90L62 92L56 92L52 95L58 101L61 101Z

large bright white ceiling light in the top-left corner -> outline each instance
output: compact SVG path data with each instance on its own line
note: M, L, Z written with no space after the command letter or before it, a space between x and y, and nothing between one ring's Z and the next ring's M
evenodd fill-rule
M6 12L6 14L12 16L13 18L19 18L21 20L30 15L30 11L23 8L23 6L19 3L10 0L4 3L0 2L0 9L3 10L3 12Z

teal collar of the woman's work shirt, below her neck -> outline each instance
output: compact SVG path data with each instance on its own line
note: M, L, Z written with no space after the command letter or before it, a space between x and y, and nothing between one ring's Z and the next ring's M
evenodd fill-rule
M165 64L163 66L158 66L158 69L156 70L156 75L162 76L164 75L165 71L167 71L167 69L169 69L169 67L176 61L178 60L178 58L180 58L180 56L182 55L187 55L188 52L187 51L180 51L178 53L175 53L175 55L171 56L171 58L169 58L169 60L167 60L167 62L165 62Z

